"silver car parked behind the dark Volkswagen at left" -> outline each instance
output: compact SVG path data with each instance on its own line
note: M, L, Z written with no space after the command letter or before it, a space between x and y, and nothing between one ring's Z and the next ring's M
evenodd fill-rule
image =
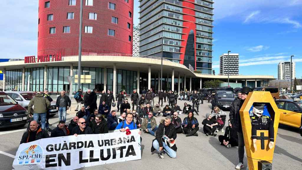
M14 100L16 100L22 107L27 109L29 102L34 96L36 96L35 92L32 91L6 91L6 93L11 96ZM49 115L50 117L55 116L58 113L56 110L56 102L52 101L50 103Z

